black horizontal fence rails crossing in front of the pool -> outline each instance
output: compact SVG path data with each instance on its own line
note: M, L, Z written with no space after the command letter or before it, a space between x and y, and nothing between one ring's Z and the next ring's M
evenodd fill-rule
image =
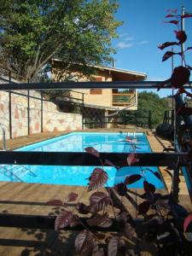
M139 88L158 88L158 84L161 82L80 82L80 83L31 83L31 84L0 84L0 90L52 90L52 89L79 89L79 88L125 88L125 89L139 89ZM167 84L167 88L171 88ZM177 101L180 105L182 102ZM191 118L183 118L186 124L191 125ZM190 132L192 131L192 127ZM191 133L190 133L191 134ZM191 136L191 135L190 135ZM103 159L116 161L119 166L127 165L127 154L122 153L102 153ZM186 183L189 189L189 195L192 196L192 182L191 182L191 160L188 157L188 153L180 152L177 153L144 153L137 154L137 158L140 160L139 165L143 166L185 166L187 175ZM15 164L15 165L75 165L75 166L97 166L98 159L88 153L82 152L16 152L16 151L1 151L0 152L0 163L1 164ZM136 163L137 164L137 163ZM2 213L1 219L4 219L4 226L22 226L22 223L26 224L26 227L41 227L53 229L53 223L55 217L49 216L36 216L32 217L32 223L29 222L30 216L15 214ZM18 222L15 224L16 219ZM20 221L19 221L20 220ZM28 222L28 224L27 224ZM2 222L0 222L2 224Z

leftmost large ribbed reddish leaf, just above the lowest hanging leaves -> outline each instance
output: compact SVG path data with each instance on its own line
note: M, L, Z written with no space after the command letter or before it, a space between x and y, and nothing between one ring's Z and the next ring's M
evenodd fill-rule
M73 213L67 210L63 210L60 214L55 218L55 230L59 230L67 227L71 224L73 218Z

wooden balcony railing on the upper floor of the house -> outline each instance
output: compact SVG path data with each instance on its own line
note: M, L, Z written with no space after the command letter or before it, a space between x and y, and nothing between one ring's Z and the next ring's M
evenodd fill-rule
M135 101L136 94L135 93L113 93L112 95L112 105L113 106L119 106L119 107L125 107L129 106L130 104Z

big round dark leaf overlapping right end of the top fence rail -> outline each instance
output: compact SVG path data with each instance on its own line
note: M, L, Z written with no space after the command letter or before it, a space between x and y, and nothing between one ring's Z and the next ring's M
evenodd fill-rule
M180 88L189 83L190 71L187 67L175 67L171 77L172 87Z

